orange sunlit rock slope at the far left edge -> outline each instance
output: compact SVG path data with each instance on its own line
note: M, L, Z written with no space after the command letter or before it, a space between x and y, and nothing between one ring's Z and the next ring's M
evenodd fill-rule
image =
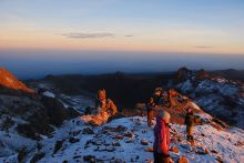
M33 93L34 90L29 89L24 83L19 81L11 72L0 68L0 86L20 90L28 93Z

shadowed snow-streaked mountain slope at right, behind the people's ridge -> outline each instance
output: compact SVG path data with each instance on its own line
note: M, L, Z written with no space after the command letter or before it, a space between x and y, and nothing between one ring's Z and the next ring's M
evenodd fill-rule
M175 85L210 114L244 129L244 83L184 69ZM203 73L202 73L203 74Z

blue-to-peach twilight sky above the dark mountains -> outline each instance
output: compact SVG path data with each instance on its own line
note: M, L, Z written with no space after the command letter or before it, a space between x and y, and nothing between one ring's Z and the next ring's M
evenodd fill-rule
M0 65L192 57L190 65L244 69L243 18L243 0L0 0ZM225 67L214 67L217 57Z

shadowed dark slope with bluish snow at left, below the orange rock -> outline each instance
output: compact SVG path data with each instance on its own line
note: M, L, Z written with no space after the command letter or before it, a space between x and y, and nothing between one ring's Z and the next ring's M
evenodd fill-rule
M21 89L24 91L19 91L19 86L0 88L0 162L6 157L23 162L42 137L60 128L64 120L78 115L54 98Z

